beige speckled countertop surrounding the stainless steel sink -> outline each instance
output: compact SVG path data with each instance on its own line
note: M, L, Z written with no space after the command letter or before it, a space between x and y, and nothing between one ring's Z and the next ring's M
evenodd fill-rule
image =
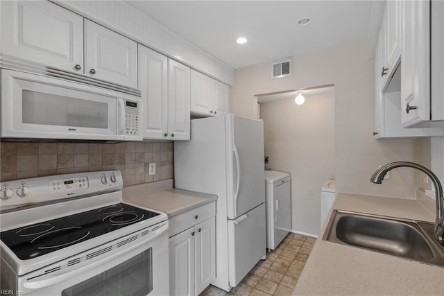
M333 205L333 209L425 221L434 221L434 207L427 198L344 193L336 195ZM293 295L444 295L443 279L444 268L323 241L321 235Z

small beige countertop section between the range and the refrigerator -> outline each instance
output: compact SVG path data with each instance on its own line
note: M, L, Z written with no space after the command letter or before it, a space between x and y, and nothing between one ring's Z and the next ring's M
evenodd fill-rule
M167 213L169 218L216 199L216 195L180 189L167 189L152 193L144 191L123 192L124 201L148 209L163 211Z

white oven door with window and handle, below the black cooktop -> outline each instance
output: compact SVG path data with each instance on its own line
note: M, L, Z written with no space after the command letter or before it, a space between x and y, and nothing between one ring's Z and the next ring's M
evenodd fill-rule
M168 222L19 278L26 295L169 295Z

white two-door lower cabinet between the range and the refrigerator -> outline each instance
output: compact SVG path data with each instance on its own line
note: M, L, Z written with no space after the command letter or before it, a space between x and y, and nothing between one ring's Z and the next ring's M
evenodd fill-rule
M215 208L214 203L209 206ZM212 216L179 234L174 233L175 229L187 223L185 216L196 221L203 218L198 211L192 211L182 214L182 217L173 217L170 221L172 226L180 223L170 228L170 236L173 235L169 238L171 295L198 295L216 278L216 218Z

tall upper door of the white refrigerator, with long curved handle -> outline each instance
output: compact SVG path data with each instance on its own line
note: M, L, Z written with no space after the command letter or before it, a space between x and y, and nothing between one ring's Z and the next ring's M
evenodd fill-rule
M231 115L234 198L228 198L228 218L234 219L265 202L264 131L262 121ZM230 196L230 195L228 195Z

